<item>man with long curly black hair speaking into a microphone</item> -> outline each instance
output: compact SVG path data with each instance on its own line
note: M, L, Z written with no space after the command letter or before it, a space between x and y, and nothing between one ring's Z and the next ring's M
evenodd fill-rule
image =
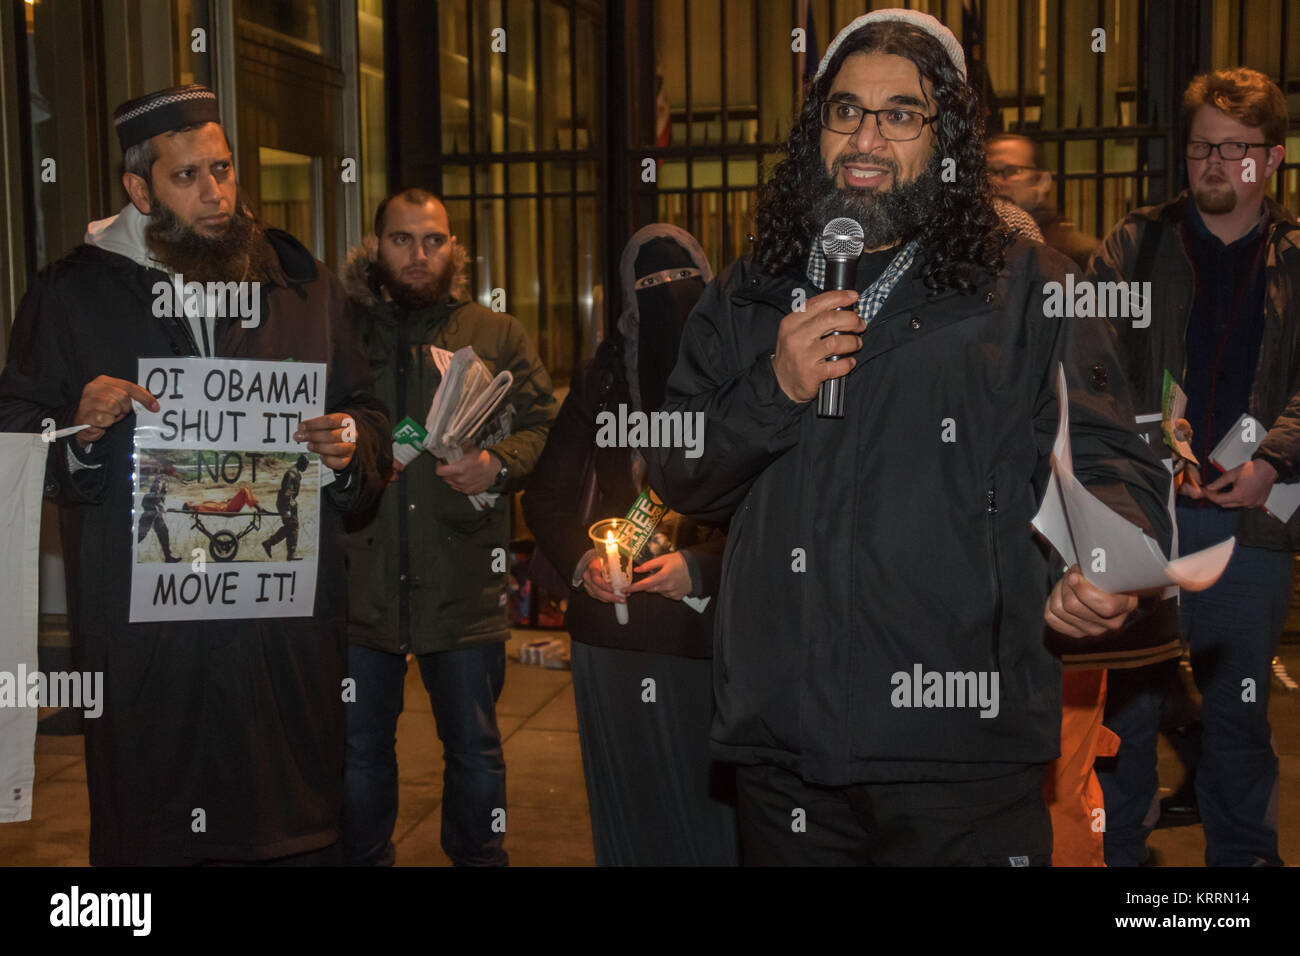
M857 287L822 291L840 216L863 228ZM961 46L913 10L827 49L757 226L667 386L664 411L705 414L702 454L650 458L672 507L731 518L712 741L741 765L745 861L1049 864L1044 620L1097 636L1138 604L1031 531L1061 365L1075 473L1170 532L1109 329L1044 308L1067 260L1000 226ZM814 407L829 378L841 419Z

